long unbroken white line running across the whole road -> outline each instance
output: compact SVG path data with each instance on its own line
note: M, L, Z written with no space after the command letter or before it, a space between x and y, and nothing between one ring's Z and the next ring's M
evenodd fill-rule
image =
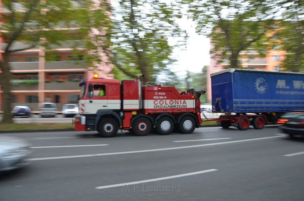
M24 160L25 161L40 161L40 160L51 160L51 159L61 159L61 158L80 158L80 157L90 157L90 156L107 156L107 155L118 155L118 154L133 154L133 153L143 153L143 152L156 152L156 151L166 151L166 150L174 150L174 149L185 149L185 148L194 148L194 147L206 147L206 146L212 146L212 145L223 145L223 144L231 144L231 143L237 143L237 142L247 142L247 141L271 139L271 138L281 138L281 137L284 137L284 136L279 135L279 136L264 137L264 138L251 138L251 139L246 139L246 140L235 140L235 141L228 141L228 142L217 142L217 143L204 144L204 145L191 145L191 146L183 146L183 147L147 149L147 150L129 151L129 152L112 152L112 153L103 153L103 154L57 156L57 157L46 157L46 158L28 158L28 159L24 159Z

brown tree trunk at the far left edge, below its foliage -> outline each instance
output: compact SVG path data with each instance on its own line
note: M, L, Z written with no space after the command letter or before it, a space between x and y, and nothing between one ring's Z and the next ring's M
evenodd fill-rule
M0 68L2 73L0 73L0 85L3 91L2 93L2 111L3 111L3 118L2 124L9 124L14 123L12 120L12 95L11 95L11 84L10 80L12 78L12 74L9 72L10 67L8 63L8 54L3 53L3 61L0 61Z

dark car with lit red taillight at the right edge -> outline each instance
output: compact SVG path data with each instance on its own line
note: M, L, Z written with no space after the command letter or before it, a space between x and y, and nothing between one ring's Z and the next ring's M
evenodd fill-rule
M286 112L277 121L282 124L279 129L289 136L302 135L304 136L304 111Z

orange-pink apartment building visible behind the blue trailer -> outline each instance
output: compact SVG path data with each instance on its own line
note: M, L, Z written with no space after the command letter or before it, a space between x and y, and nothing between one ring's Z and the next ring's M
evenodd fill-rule
M210 43L212 49L212 43ZM261 57L257 51L242 51L239 56L239 63L242 68L249 70L280 71L281 62L284 60L285 51L276 48L269 50L265 57ZM207 102L212 104L211 100L211 78L210 74L226 69L229 66L229 54L222 63L210 57L210 66L207 66ZM208 93L210 92L210 93Z

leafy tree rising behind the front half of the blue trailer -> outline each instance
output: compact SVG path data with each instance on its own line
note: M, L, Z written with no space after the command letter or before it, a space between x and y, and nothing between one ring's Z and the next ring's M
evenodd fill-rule
M241 51L254 45L262 54L268 34L273 29L276 2L266 0L188 0L189 12L197 22L197 31L208 35L213 57L221 62L227 53L230 67L238 67Z

